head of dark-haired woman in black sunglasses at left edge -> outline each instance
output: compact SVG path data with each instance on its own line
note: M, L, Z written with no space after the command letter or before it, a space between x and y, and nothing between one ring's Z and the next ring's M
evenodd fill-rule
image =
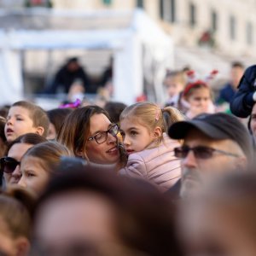
M5 156L0 159L0 170L3 172L4 181L7 185L19 182L21 177L20 160L26 150L46 141L46 138L38 134L26 133L9 144Z

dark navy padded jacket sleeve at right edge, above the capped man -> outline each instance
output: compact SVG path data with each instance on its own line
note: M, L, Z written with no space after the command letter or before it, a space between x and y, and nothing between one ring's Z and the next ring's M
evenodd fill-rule
M236 116L246 118L253 109L253 93L256 90L256 65L248 67L243 74L236 95L230 102L230 110Z

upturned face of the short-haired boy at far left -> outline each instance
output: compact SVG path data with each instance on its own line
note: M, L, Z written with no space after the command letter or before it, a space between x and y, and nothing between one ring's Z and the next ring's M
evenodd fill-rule
M20 135L29 132L36 133L37 130L26 108L15 106L9 109L4 127L4 134L8 142L12 142Z

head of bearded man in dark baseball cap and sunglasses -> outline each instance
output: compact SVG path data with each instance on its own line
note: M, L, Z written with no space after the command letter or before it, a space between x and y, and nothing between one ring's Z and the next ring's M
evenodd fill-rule
M202 184L225 172L246 170L253 158L246 127L225 113L202 113L177 122L168 134L183 139L183 145L175 148L175 156L182 159L181 197L195 194Z

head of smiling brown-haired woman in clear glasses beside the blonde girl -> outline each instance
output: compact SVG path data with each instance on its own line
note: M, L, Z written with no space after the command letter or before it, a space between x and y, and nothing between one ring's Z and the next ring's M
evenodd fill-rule
M57 141L74 156L102 165L122 166L119 126L113 124L107 111L98 106L77 108L65 119Z

